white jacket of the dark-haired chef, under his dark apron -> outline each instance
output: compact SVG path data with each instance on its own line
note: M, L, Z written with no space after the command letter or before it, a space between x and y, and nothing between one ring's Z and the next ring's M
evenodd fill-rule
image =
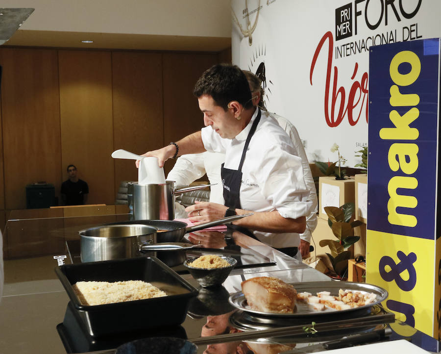
M209 152L224 152L224 168L237 170L246 137L258 110L248 125L234 138L223 139L207 126L201 129L204 147ZM242 167L240 202L242 209L256 212L277 210L284 218L307 216L312 202L303 178L301 158L295 155L290 137L270 113L262 117L246 152ZM260 241L275 248L298 247L298 233L254 231Z

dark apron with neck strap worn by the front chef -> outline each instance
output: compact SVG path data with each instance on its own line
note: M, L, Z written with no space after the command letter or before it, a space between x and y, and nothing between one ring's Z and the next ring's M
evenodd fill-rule
M242 151L242 157L241 162L239 163L239 167L237 170L230 170L228 168L224 168L223 165L225 163L222 163L221 165L221 178L222 178L222 185L223 185L223 199L225 201L225 206L228 206L229 208L236 208L236 209L242 209L241 207L241 200L240 200L240 193L241 193L241 182L242 182L242 166L244 165L245 161L245 155L246 150L248 149L249 142L254 135L254 132L256 131L257 125L260 121L261 111L260 108L259 112L257 113L257 117L254 120L251 129L249 130L248 136L246 137L244 150ZM254 236L254 233L251 230L248 230L247 228L229 224L228 228L233 228L239 232L244 233L245 235L252 237L256 240L257 237ZM292 257L297 253L297 247L288 247L288 248L280 248L276 249L283 253L286 253Z

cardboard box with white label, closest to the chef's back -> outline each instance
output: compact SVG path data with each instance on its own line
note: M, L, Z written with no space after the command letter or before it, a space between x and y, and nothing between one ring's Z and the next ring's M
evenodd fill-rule
M335 179L335 177L319 177L319 218L328 220L325 206L341 206L347 202L355 202L355 179Z

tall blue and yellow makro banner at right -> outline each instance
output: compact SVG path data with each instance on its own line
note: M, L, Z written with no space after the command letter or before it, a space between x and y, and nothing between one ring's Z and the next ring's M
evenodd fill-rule
M367 281L397 318L440 338L440 40L369 53Z

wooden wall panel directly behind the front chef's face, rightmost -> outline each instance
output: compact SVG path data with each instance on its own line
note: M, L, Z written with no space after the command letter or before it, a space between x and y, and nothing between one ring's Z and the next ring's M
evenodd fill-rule
M217 54L163 54L165 144L204 126L193 88L202 73L217 62ZM166 162L166 176L173 164L172 160Z

